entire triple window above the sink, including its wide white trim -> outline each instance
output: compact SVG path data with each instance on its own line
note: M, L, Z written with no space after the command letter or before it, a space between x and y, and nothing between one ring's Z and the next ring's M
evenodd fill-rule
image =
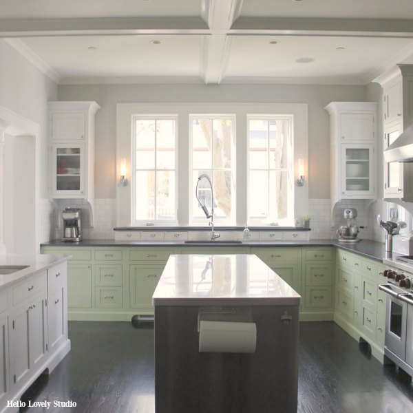
M213 183L217 225L293 225L308 213L305 103L118 103L117 182L125 159L130 184L116 188L117 226L200 226L198 177ZM199 181L211 212L211 189Z

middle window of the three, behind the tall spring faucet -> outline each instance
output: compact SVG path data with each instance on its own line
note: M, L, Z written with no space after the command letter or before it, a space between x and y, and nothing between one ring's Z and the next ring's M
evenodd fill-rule
M214 199L214 220L220 224L235 224L235 116L190 115L191 136L191 221L205 223L205 215L198 205L195 188L198 178L206 174L207 179L198 184L198 197L211 213Z

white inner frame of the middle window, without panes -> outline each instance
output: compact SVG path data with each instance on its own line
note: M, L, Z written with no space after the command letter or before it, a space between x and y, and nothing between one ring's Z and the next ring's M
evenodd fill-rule
M229 222L225 222L224 225L235 225L236 221L236 211L237 211L237 179L236 179L236 157L237 157L237 147L235 145L236 141L236 122L237 122L237 117L235 114L189 114L189 222L191 225L195 226L207 226L209 225L209 220L205 218L201 219L193 219L193 202L191 202L191 192L193 191L193 184L192 182L192 177L193 177L193 136L192 136L192 123L193 120L195 119L208 119L208 120L215 120L215 119L231 119L232 120L232 142L231 142L231 172L232 172L232 178L233 178L233 188L231 192L231 207L232 207L232 216L231 220ZM214 170L223 170L223 169L214 169L211 167L211 171ZM211 176L211 181L213 184L213 177ZM211 211L210 211L211 212ZM214 224L215 225L220 225L222 224L222 221L217 220L216 217L214 217Z

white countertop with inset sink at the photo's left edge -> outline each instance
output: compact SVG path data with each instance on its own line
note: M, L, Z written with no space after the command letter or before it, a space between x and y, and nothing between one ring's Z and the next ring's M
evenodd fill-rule
M36 273L68 260L72 255L0 255L0 290L16 284L21 280L31 277ZM11 274L1 274L1 268L10 266L25 266Z

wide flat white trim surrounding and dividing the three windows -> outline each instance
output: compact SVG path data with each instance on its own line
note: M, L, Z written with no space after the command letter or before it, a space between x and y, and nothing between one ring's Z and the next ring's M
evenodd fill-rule
M116 226L131 226L131 185L121 187L120 162L126 159L127 176L131 178L131 116L134 114L178 116L177 188L178 225L190 227L189 222L189 114L235 114L237 153L235 154L235 180L237 182L235 225L244 226L247 215L247 114L292 114L294 116L294 180L298 176L298 159L304 159L303 187L294 186L294 216L302 218L308 213L308 105L306 103L118 103L116 106ZM170 224L170 223L169 223ZM170 224L173 226L173 224Z

